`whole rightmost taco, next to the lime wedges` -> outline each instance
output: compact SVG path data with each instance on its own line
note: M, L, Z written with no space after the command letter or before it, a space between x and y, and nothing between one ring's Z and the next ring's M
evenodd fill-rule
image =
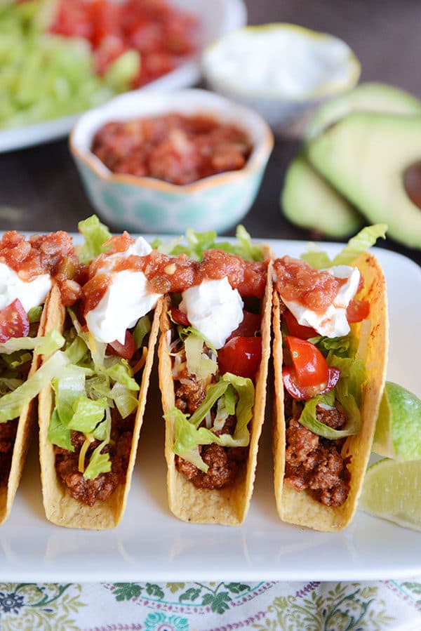
M385 383L385 278L364 228L330 261L274 261L274 479L284 522L345 528L356 511ZM311 263L311 265L309 265Z

